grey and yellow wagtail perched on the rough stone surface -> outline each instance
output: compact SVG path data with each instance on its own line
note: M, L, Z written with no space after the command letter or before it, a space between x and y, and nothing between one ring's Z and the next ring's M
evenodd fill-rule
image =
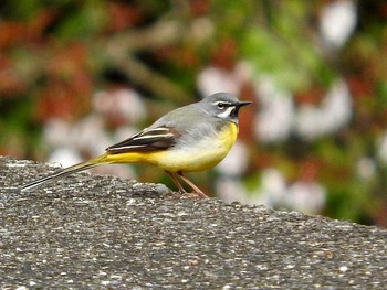
M175 174L194 190L192 194L207 196L182 172L210 169L227 155L237 139L239 109L249 104L228 93L213 94L168 112L150 127L108 147L106 153L33 181L21 191L101 164L147 163L165 170L180 193L187 192Z

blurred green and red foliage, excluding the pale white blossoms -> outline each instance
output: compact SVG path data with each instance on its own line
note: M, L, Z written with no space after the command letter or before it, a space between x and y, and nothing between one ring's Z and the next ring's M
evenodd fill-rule
M270 76L290 92L295 110L323 106L325 93L341 78L353 103L344 128L313 140L292 133L270 146L254 137L252 126L244 128L250 131L242 138L253 152L244 185L257 191L260 171L269 167L291 184L305 179L306 163L313 171L306 179L328 193L324 214L386 225L380 216L387 212L387 164L378 151L387 131L385 8L356 2L358 24L343 47L333 49L323 44L318 26L321 10L331 2L6 0L0 8L0 152L43 158L44 123L84 118L97 89L142 92L156 117L165 109L160 99L168 108L192 101L197 76L208 66L233 72L240 61L248 62L252 74L243 79L241 95L255 100L254 82ZM244 123L261 112L261 104L254 106ZM121 121L114 117L111 127ZM360 176L359 161L367 158L375 172ZM144 172L140 179L147 180L150 173ZM211 176L198 181L208 184Z

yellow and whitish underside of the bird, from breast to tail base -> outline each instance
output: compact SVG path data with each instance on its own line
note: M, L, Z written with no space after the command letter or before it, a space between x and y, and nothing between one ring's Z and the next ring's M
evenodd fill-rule
M100 162L148 163L170 172L202 171L222 161L236 142L237 136L238 126L230 122L223 127L217 138L207 137L185 148L171 148L156 152L105 154Z

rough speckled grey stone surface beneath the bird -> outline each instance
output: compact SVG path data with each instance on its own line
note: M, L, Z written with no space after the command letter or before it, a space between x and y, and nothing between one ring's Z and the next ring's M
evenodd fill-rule
M387 289L387 230L0 158L0 289Z

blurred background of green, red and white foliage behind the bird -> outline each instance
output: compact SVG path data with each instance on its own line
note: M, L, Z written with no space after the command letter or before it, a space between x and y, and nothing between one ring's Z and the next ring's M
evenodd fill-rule
M386 20L378 0L2 0L0 154L71 165L229 92L253 105L199 186L387 226Z

